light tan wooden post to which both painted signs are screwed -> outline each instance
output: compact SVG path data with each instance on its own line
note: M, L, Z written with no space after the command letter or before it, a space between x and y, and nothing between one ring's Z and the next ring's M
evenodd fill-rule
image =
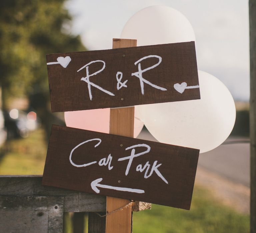
M113 49L135 46L137 46L137 40L113 39ZM109 133L133 137L133 130L134 107L110 109ZM107 197L106 212L110 213L129 202L130 200L126 199ZM131 205L106 217L106 233L120 232L131 232Z

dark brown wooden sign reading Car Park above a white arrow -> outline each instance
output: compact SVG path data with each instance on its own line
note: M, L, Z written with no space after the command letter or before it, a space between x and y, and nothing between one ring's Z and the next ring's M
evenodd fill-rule
M53 125L43 184L190 209L199 150Z

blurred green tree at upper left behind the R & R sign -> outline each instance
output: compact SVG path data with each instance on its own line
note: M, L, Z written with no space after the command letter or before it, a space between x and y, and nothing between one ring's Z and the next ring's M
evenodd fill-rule
M79 36L69 33L65 0L0 1L0 86L3 108L10 98L30 97L49 130L46 54L84 51ZM54 118L54 117L53 117ZM49 133L49 132L48 132Z

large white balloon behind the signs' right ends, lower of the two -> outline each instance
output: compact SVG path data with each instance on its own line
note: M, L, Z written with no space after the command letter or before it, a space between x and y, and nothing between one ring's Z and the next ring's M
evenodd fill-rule
M203 71L198 71L198 76L200 100L136 106L136 117L158 141L197 148L203 153L227 139L236 109L229 90L219 79Z

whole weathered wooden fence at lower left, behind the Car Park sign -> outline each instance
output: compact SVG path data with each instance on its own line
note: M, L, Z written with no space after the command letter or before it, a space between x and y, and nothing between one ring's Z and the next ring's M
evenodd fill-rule
M106 217L95 212L106 213L106 196L41 183L37 175L0 175L0 232L61 233L64 212L88 212L88 232L105 233ZM149 203L132 203L132 211L150 208Z

